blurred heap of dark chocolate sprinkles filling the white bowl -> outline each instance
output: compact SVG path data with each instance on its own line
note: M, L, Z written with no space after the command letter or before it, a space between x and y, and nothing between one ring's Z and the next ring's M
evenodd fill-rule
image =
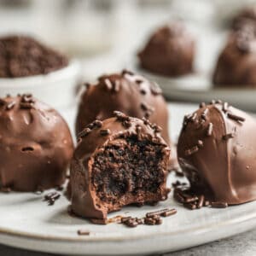
M65 55L26 36L0 38L0 78L46 74L67 67Z

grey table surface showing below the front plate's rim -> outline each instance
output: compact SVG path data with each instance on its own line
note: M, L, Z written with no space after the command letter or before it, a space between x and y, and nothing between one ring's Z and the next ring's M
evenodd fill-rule
M16 248L0 245L0 255L2 256L52 256L50 253L35 253ZM228 239L213 241L200 247L193 247L176 253L164 253L161 256L253 256L256 255L256 230L247 231L238 236ZM151 255L153 256L153 255Z

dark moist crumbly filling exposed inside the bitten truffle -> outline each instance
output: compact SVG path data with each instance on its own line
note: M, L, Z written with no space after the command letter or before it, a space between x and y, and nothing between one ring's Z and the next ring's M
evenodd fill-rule
M108 145L96 154L92 184L101 201L117 203L125 193L156 193L165 175L162 169L163 145L137 137L126 138L125 145Z

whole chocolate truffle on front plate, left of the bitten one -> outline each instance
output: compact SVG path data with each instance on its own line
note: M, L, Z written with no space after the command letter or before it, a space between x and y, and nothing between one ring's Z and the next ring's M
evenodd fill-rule
M72 154L67 123L55 109L28 94L0 99L0 190L60 186Z

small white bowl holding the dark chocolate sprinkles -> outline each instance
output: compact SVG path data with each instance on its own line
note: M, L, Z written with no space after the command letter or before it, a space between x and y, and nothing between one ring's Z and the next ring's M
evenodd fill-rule
M75 102L79 73L79 62L70 61L67 67L48 74L0 79L0 96L32 93L54 108L67 108Z

